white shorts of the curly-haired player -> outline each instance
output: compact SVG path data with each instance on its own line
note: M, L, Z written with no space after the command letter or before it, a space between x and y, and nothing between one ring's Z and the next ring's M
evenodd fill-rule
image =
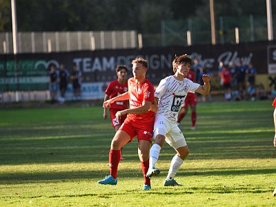
M166 137L166 142L175 148L175 150L182 146L187 146L184 135L177 124L162 115L155 114L153 134L154 139L157 135L164 135Z

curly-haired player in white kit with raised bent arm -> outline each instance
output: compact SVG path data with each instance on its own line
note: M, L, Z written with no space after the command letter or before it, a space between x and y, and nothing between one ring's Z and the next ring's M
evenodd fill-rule
M188 156L189 150L184 135L177 126L177 116L181 105L184 103L188 92L198 92L201 95L208 95L210 92L210 76L203 75L204 86L186 79L193 59L189 55L175 57L172 61L172 68L175 75L170 75L162 79L155 90L155 125L154 139L155 144L150 148L150 166L146 174L147 177L158 175L160 170L155 168L161 147L166 141L177 154L172 158L170 170L164 186L181 186L175 181L177 170ZM152 109L154 110L154 109Z

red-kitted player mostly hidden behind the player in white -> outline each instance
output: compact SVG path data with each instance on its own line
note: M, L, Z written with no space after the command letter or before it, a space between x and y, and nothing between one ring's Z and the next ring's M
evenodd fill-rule
M189 70L186 79L190 79L191 81L195 81L195 72L193 70ZM180 112L179 117L177 119L177 125L180 125L181 120L186 116L188 112L188 106L190 105L190 110L192 110L192 113L190 115L190 118L192 120L192 129L195 129L195 121L197 121L197 95L193 92L188 92L188 95L184 101L184 104L181 106L183 110Z

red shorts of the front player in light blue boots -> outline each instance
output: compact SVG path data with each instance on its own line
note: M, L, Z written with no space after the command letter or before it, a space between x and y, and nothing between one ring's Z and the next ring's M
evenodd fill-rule
M137 135L138 141L141 139L148 140L150 143L152 142L152 132L153 132L153 124L141 124L137 120L126 118L124 124L121 125L119 130L123 130L130 135L130 141ZM129 141L129 142L130 142Z

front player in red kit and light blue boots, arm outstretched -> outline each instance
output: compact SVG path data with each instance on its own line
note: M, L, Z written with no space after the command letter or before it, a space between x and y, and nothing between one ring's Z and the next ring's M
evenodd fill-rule
M150 111L155 89L152 83L146 79L148 61L137 57L132 61L132 65L133 77L128 79L128 92L103 102L103 107L106 108L115 101L129 99L130 108L120 110L115 115L117 119L124 115L127 115L127 117L111 142L109 152L110 175L105 179L99 180L98 184L117 184L117 169L120 161L121 148L137 136L138 155L144 175L143 190L150 190L150 178L146 177L146 172L149 166L149 152L155 121L155 112Z

